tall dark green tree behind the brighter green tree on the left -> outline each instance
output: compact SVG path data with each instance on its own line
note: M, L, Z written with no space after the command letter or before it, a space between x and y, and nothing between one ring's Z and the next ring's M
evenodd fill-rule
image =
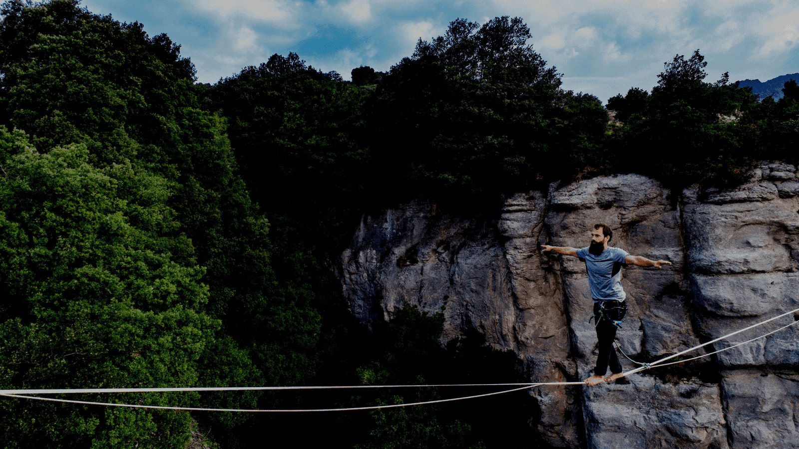
M31 134L42 153L79 142L97 167L129 163L173 181L169 205L181 227L172 232L192 242L191 262L209 268L206 307L240 344L252 344L259 332L252 320L279 295L268 222L235 174L226 121L200 109L180 46L74 0L14 0L2 14L0 48L10 50L0 54L0 101L8 124ZM270 67L294 63L276 58Z

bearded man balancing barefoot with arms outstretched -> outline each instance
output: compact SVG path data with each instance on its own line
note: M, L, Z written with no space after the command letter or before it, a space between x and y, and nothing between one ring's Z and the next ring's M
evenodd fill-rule
M627 312L627 304L624 301L626 294L622 288L622 265L661 268L663 264L671 264L667 260L654 262L646 257L630 256L623 249L608 246L612 238L613 231L607 224L594 224L591 244L585 248L541 245L542 252L555 251L566 256L579 257L586 262L588 284L591 297L594 298L593 319L599 351L594 375L586 379L586 383L590 386L622 377L622 366L618 364L618 357L613 348L616 329L621 327L622 319ZM613 374L605 377L608 363Z

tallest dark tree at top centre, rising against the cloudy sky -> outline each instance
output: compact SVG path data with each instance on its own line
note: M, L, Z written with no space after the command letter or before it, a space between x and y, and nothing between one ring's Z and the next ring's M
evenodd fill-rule
M416 45L376 91L370 173L391 180L404 201L418 196L491 201L562 177L590 159L607 114L584 117L587 97L559 89L560 74L526 44L520 18L479 26L457 19ZM388 176L387 176L388 175Z

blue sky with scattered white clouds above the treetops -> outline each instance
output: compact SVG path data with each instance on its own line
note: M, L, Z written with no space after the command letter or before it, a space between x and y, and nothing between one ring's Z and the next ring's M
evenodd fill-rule
M166 33L215 83L295 52L344 79L359 66L387 71L419 38L455 18L508 15L531 29L527 42L563 74L562 88L606 102L630 87L651 90L663 63L699 49L705 81L766 81L799 72L797 0L82 0L96 14Z

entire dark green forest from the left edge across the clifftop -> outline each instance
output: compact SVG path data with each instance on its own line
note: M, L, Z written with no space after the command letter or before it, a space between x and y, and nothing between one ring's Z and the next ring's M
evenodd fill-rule
M514 356L476 331L441 348L440 314L407 305L371 330L349 315L328 267L361 213L424 197L479 217L503 193L612 172L729 186L755 161L796 158L796 82L757 101L726 74L706 83L698 50L666 62L651 91L610 98L609 123L598 98L560 88L521 18L456 19L388 73L358 67L352 82L292 53L203 85L165 34L77 0L10 0L0 13L4 389L521 379ZM437 397L81 399L312 408ZM520 393L474 410L325 415L306 438L527 446L537 436L522 409L535 401ZM197 423L222 447L247 447L264 428L308 422L10 398L0 415L4 447L181 447Z

